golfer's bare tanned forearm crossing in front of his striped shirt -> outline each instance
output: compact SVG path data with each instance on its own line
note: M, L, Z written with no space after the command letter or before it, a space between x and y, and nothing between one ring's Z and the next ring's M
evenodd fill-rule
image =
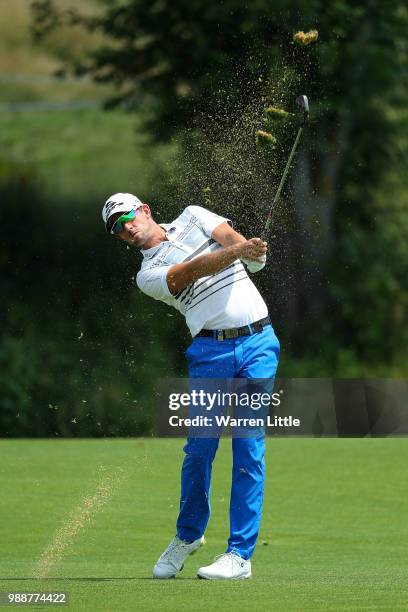
M240 246L240 244L234 244L214 253L200 255L191 261L172 266L167 274L167 284L171 293L177 293L199 278L211 276L227 268L239 258Z

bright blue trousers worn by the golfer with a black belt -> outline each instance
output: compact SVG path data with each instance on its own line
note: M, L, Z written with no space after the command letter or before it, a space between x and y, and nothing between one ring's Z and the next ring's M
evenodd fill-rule
M273 379L279 341L270 325L250 336L217 341L195 338L186 351L191 378ZM210 518L212 462L219 438L188 438L181 471L177 535L193 541L201 537ZM262 516L265 482L264 434L232 439L233 468L230 500L230 537L227 552L249 559L255 549Z

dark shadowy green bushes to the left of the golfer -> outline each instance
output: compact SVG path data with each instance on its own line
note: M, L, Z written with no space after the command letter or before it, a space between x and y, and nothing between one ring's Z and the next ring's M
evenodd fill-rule
M150 433L187 335L139 294L140 256L107 238L99 207L56 207L2 172L0 437Z

